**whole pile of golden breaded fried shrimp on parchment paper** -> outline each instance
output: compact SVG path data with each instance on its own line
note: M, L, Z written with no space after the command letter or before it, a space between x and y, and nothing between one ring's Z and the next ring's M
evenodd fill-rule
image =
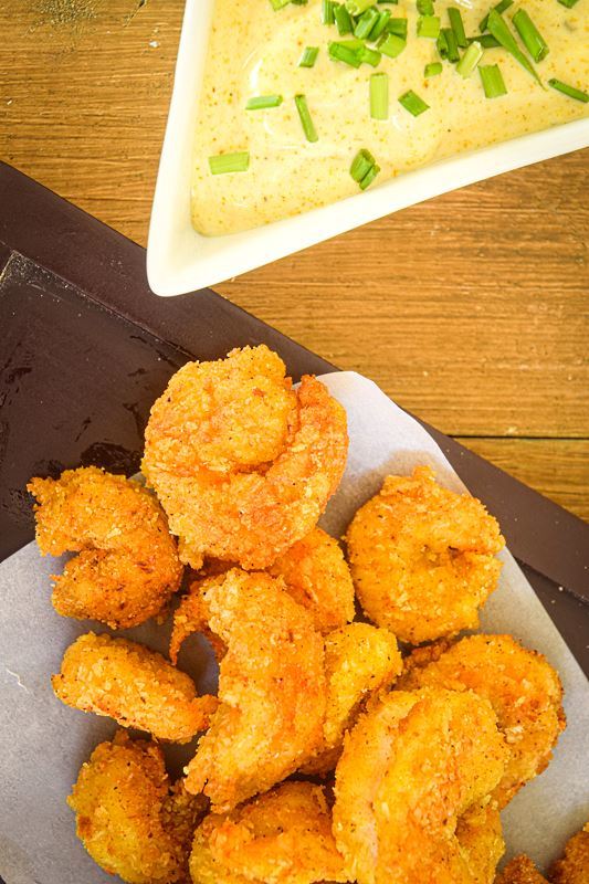
M541 654L464 634L497 585L497 522L419 466L330 537L347 449L327 388L261 345L171 378L145 485L31 480L41 551L74 554L52 603L96 623L55 696L119 726L67 798L80 840L129 884L587 884L588 831L547 878L527 856L497 876L499 811L565 728ZM117 634L167 618L167 656ZM215 696L178 667L194 633ZM173 781L162 746L191 740Z

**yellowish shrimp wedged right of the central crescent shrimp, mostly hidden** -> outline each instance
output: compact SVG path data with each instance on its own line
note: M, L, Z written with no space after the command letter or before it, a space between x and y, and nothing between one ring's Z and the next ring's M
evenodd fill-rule
M344 747L344 734L354 725L367 699L390 687L402 670L395 635L368 623L349 623L325 640L327 707L324 739L305 774L333 770Z

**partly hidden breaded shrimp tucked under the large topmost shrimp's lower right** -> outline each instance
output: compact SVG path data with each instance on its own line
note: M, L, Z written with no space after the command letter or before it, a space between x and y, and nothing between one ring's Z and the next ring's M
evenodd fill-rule
M313 614L327 634L354 620L354 583L337 540L320 528L294 544L269 569L283 577L287 592Z

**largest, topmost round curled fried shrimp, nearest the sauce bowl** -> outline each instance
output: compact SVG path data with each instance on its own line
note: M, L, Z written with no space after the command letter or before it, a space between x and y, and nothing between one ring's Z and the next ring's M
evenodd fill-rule
M315 527L341 478L346 414L314 377L292 390L265 346L189 362L151 409L143 471L180 538L204 556L267 568Z

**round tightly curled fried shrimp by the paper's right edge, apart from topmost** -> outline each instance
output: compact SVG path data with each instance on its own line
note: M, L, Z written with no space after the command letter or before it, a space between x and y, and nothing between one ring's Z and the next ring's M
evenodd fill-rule
M428 466L388 476L354 516L346 541L367 617L410 644L478 625L505 544L483 504L438 485Z

